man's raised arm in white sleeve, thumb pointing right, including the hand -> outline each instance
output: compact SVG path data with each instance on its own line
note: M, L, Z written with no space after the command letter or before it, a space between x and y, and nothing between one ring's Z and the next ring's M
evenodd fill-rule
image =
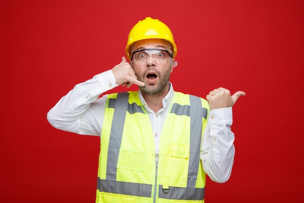
M231 95L229 90L218 88L206 96L210 113L201 144L201 160L206 174L218 183L226 182L231 175L235 155L232 106L243 95L246 93L238 91Z

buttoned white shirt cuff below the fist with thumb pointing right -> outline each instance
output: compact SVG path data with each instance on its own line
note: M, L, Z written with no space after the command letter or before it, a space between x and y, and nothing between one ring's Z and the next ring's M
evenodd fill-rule
M209 116L210 125L232 125L232 107L213 109Z

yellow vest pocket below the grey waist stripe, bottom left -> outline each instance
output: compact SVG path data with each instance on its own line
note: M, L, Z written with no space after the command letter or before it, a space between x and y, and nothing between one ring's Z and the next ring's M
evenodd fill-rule
M98 203L135 203L135 198L128 195L100 192Z

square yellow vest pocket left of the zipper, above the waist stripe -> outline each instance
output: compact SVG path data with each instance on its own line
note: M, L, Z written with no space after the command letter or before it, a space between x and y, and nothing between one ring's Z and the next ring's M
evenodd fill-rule
M147 152L130 149L119 149L118 168L144 171Z

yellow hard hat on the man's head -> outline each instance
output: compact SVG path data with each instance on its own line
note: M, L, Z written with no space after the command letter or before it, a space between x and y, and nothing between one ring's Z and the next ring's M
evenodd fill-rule
M177 54L177 47L169 27L158 19L147 17L144 20L139 20L138 23L134 25L134 27L131 29L129 33L127 46L126 46L126 55L129 60L131 60L131 55L132 55L130 46L134 42L143 39L165 39L169 41L172 45L171 47L173 52L172 58L174 58Z

